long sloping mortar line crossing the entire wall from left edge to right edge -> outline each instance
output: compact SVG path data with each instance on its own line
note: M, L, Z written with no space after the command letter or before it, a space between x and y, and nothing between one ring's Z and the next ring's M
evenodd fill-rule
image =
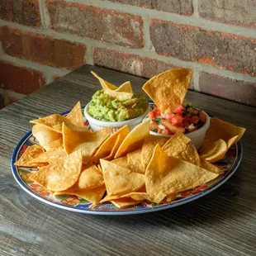
M210 64L198 64L190 61L185 61L182 59L176 59L171 56L158 55L154 51L143 50L143 49L130 49L120 45L112 45L111 43L103 42L100 40L93 40L91 38L82 38L78 36L72 36L69 34L59 33L51 29L40 30L36 28L31 28L31 27L23 26L10 21L3 21L2 24L5 24L6 26L9 26L12 28L20 29L22 31L30 31L30 32L39 33L45 36L55 36L55 38L59 40L67 40L67 38L69 37L69 41L74 43L81 43L88 46L93 45L97 47L107 48L110 50L121 51L122 53L131 54L131 55L140 55L141 57L146 57L149 59L157 59L159 61L164 61L166 63L174 64L174 65L185 67L185 68L191 68L198 71L205 71L207 73L215 73L215 74L219 74L220 76L225 76L231 79L237 79L245 82L256 83L256 78L251 77L249 74L234 73L229 70L218 69L217 67L211 66ZM51 69L55 69L55 68L51 68Z

